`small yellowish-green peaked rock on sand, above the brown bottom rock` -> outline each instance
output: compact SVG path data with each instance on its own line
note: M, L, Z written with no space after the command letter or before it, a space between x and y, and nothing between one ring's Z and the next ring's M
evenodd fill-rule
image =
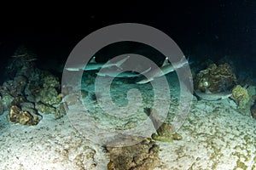
M161 142L172 143L173 140L180 140L182 136L176 132L173 132L172 126L167 123L163 123L156 131L157 133L152 134L152 139L159 140Z

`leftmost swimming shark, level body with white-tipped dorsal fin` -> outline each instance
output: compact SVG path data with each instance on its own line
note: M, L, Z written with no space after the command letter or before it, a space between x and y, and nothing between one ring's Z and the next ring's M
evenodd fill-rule
M125 61L129 58L130 56L125 57L124 59L120 59L118 62L107 62L107 63L96 63L95 61L95 56L90 59L90 62L88 63L88 65L83 65L83 64L78 64L78 65L72 65L70 67L65 68L67 71L96 71L96 70L100 70L102 68L108 68L108 67L112 67L112 66L116 66L119 69L121 68L121 65L123 63L125 63Z

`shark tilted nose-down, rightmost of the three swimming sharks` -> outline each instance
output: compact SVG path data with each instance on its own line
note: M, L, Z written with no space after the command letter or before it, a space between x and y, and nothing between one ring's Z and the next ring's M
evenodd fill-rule
M189 65L189 62L185 58L185 56L183 56L182 59L180 59L180 61L178 61L177 63L174 63L173 65L175 65L175 66L171 65L168 62L168 60L169 60L168 57L166 57L163 65L161 65L160 69L158 68L158 69L148 71L146 73L147 77L143 77L143 79L141 79L140 81L138 81L136 83L137 84L145 84L147 82L151 82L156 77L162 77L170 72L175 71L175 69L182 68L184 65Z

